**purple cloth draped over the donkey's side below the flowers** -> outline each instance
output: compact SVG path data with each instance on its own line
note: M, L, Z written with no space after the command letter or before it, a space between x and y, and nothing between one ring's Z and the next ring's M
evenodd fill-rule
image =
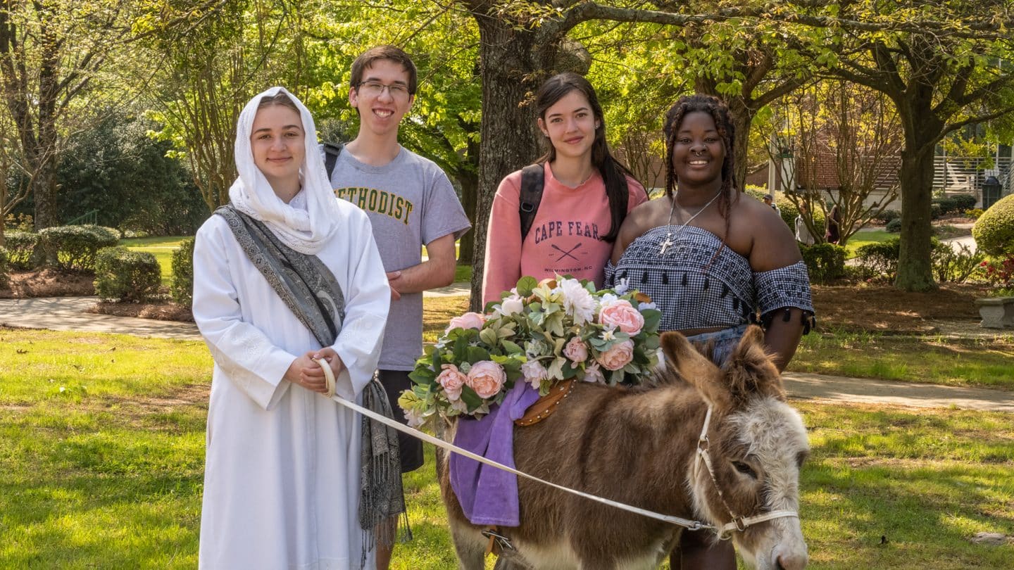
M514 420L538 400L538 391L519 378L499 407L480 420L460 418L454 444L514 467ZM518 526L517 476L462 457L450 456L450 485L473 524Z

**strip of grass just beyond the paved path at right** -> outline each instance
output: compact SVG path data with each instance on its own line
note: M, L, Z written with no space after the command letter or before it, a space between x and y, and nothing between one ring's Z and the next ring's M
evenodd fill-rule
M819 331L803 337L789 370L1014 389L1014 335L992 339Z

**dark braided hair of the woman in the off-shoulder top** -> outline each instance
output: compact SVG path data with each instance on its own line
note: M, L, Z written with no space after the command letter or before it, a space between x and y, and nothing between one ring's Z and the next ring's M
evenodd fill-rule
M722 236L722 244L729 235L729 207L736 198L736 155L732 149L732 141L735 136L735 128L732 126L732 118L729 117L729 108L717 97L704 94L683 95L676 99L676 102L665 114L665 126L662 131L665 133L665 195L672 198L676 186L676 172L672 167L672 151L676 146L676 135L679 132L679 124L683 122L683 117L689 113L707 113L715 121L715 130L718 131L719 138L722 139L722 146L725 148L725 159L722 161L722 187L719 189L718 212L725 219L725 235Z

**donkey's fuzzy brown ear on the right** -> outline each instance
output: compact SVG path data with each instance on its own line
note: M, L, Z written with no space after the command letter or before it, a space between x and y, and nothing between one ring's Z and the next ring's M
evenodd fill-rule
M764 330L750 326L725 365L725 381L736 404L756 395L785 400L782 377L764 344Z

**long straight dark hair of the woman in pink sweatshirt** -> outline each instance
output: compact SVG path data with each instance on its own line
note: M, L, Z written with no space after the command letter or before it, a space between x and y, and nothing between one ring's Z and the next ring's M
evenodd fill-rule
M595 140L591 144L591 164L598 169L605 183L605 197L609 200L609 217L611 226L609 232L601 236L602 241L615 241L620 233L620 225L627 217L628 187L627 176L634 177L634 174L609 153L609 145L605 142L605 117L602 115L602 105L595 96L595 89L587 79L577 73L568 71L550 77L538 88L535 95L535 113L538 118L546 121L546 112L566 96L571 91L579 91L588 99L591 112L595 116L595 122L599 127L595 129ZM537 162L545 163L557 158L557 149L547 139L549 148Z

